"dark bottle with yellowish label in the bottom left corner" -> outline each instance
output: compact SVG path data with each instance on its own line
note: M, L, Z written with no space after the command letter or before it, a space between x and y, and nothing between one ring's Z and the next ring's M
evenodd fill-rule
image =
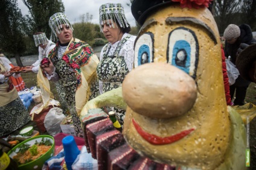
M0 169L1 170L16 170L18 169L18 164L11 159L6 153L0 149Z

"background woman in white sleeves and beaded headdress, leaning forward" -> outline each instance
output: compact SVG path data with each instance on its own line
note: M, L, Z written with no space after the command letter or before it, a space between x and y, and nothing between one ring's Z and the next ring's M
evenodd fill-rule
M26 72L37 73L40 68L40 61L42 61L42 59L44 57L47 57L48 53L55 46L55 43L53 43L51 40L47 39L47 37L45 36L45 33L37 32L33 35L33 37L34 37L34 43L36 44L36 46L39 46L38 60L36 60L36 62L33 65L26 66L25 69L23 69L23 71L22 71L24 73L26 73Z

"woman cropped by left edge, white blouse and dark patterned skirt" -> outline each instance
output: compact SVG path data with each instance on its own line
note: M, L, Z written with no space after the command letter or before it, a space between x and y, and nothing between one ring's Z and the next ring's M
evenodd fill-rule
M20 74L11 74L8 59L0 57L0 137L17 130L31 120L25 105L19 98L16 88L8 77L15 78Z

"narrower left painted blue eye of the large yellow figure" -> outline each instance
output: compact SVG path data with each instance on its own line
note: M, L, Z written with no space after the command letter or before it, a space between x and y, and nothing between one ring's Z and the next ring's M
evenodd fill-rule
M134 68L153 62L153 33L147 32L135 42Z

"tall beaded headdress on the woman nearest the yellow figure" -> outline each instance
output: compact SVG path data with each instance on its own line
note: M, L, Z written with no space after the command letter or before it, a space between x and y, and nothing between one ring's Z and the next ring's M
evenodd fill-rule
M120 25L122 28L129 27L129 23L127 22L126 16L124 15L124 7L122 4L103 4L100 6L100 25L103 25L107 22L109 24L109 20L111 20L112 25L110 27L115 28L114 22ZM100 27L100 31L102 32L102 28Z

